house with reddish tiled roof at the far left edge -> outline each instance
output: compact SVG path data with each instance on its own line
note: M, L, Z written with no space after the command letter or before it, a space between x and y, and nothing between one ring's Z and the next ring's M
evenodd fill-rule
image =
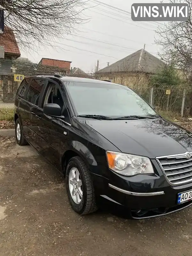
M0 34L0 102L13 102L17 82L13 79L12 61L20 57L20 50L11 28L5 26Z

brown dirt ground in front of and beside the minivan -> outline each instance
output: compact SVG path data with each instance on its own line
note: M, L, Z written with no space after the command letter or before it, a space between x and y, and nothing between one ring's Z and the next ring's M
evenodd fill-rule
M60 174L30 146L0 137L0 256L191 256L191 210L149 220L79 216Z

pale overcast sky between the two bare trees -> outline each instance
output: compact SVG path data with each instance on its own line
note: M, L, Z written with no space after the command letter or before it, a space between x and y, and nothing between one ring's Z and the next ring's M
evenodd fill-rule
M154 43L154 30L160 22L136 22L131 19L133 3L159 3L156 0L90 0L84 11L90 21L79 26L78 35L66 36L58 40L56 47L41 50L39 53L23 52L33 62L41 58L72 61L71 67L79 67L87 73L94 72L97 60L99 69L120 60L143 48L157 55L159 46ZM165 1L167 2L167 1ZM121 10L119 10L121 9ZM47 36L49 38L49 36Z

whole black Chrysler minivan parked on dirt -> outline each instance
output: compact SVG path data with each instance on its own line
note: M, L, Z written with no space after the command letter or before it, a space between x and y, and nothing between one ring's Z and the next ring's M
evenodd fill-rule
M17 143L29 143L62 172L79 214L105 202L142 219L192 204L192 133L126 86L28 76L15 97L14 120Z

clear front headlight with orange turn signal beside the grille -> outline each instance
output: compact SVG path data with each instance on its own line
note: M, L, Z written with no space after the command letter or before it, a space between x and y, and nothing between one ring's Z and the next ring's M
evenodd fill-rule
M148 157L107 151L109 169L124 176L152 174L153 166Z

